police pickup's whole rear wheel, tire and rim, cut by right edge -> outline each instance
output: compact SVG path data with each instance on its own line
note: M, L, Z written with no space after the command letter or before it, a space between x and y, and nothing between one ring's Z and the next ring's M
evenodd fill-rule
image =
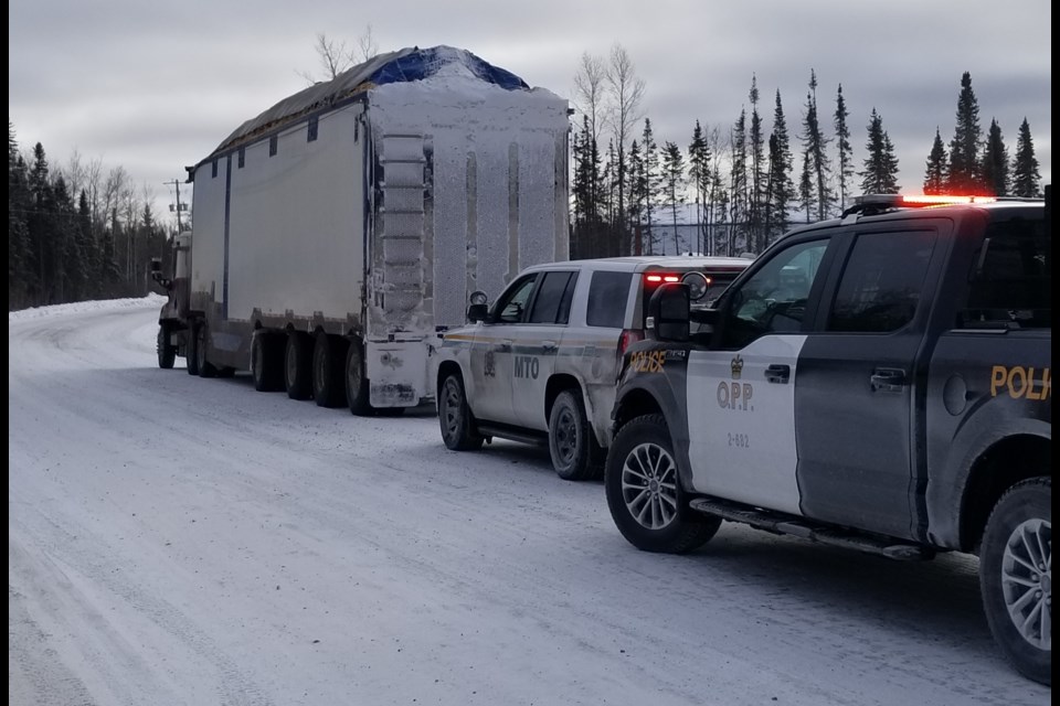
M979 552L994 640L1024 676L1052 684L1052 479L1013 485L990 513Z

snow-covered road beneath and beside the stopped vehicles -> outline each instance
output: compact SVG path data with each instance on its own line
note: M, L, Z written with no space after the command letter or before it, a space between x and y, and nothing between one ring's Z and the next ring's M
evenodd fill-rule
M159 301L9 317L17 706L1045 705L977 561L727 523L639 553L548 453L155 362Z

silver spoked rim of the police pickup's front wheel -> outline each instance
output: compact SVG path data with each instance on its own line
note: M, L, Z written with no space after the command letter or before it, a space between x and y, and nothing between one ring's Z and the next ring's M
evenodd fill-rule
M622 498L642 527L665 530L677 517L677 463L657 443L634 447L622 464Z

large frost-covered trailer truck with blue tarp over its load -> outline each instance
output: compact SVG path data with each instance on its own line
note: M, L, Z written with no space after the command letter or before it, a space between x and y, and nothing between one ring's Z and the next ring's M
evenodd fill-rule
M565 99L446 46L282 100L188 168L159 364L357 414L433 397L432 346L468 293L568 258L568 129Z

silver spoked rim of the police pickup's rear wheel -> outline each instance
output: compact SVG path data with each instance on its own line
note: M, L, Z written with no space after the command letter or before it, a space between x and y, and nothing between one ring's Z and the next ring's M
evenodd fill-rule
M1052 523L1032 518L1008 537L1001 558L1001 593L1020 637L1052 649Z

